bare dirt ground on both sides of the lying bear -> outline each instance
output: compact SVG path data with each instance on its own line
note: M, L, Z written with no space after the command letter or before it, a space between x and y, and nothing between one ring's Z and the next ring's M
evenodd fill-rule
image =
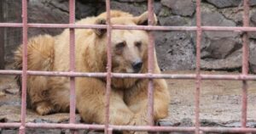
M168 71L191 74L194 71ZM204 74L236 74L204 71ZM167 80L171 92L169 116L161 126L193 126L195 120L195 80ZM256 127L256 81L248 82L248 126ZM240 126L241 81L203 81L201 85L201 125ZM40 116L27 110L28 122L67 122L68 114ZM79 121L79 115L77 117ZM0 122L20 121L20 96L14 76L0 75Z

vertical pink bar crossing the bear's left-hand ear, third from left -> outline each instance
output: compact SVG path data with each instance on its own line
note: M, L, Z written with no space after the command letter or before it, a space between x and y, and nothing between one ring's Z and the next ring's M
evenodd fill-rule
M109 103L110 103L110 94L111 94L111 68L112 68L112 53L111 53L111 20L110 20L110 0L106 0L106 9L107 9L107 37L108 37L108 64L107 64L107 91L106 91L106 103L105 103L105 133L109 134Z

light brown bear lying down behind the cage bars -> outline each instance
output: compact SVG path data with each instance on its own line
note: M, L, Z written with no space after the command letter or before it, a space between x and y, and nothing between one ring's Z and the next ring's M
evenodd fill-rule
M106 13L86 18L76 24L105 24ZM154 15L156 22L156 17ZM111 11L113 25L145 25L148 12L139 16ZM148 72L148 32L112 31L112 71L114 73ZM101 29L75 30L75 65L78 72L106 72L107 34ZM69 30L58 36L36 36L28 42L28 70L68 71ZM15 66L22 68L22 48L15 52ZM160 68L154 55L154 73ZM20 79L18 79L20 81ZM87 123L104 124L106 80L77 77L76 109ZM69 78L29 75L27 106L38 114L68 112ZM147 125L148 79L113 78L110 98L110 124ZM166 81L154 80L154 120L165 118L170 100Z

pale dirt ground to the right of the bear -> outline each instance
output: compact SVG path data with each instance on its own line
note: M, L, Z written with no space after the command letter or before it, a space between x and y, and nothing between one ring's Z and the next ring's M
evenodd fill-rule
M191 74L192 71L170 72ZM234 75L224 71L204 71L203 74ZM195 122L195 80L168 80L171 92L170 114L165 120L183 123ZM200 119L202 126L240 126L241 81L202 81ZM256 81L248 81L248 126L256 120ZM181 121L182 120L182 121ZM186 123L186 122L185 122Z

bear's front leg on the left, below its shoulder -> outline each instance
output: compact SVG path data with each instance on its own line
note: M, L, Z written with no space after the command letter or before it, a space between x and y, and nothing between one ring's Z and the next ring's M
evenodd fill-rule
M106 83L94 78L79 78L77 81L77 109L87 123L104 124L106 118ZM109 105L111 125L127 126L134 114L127 107L122 91L111 91Z

